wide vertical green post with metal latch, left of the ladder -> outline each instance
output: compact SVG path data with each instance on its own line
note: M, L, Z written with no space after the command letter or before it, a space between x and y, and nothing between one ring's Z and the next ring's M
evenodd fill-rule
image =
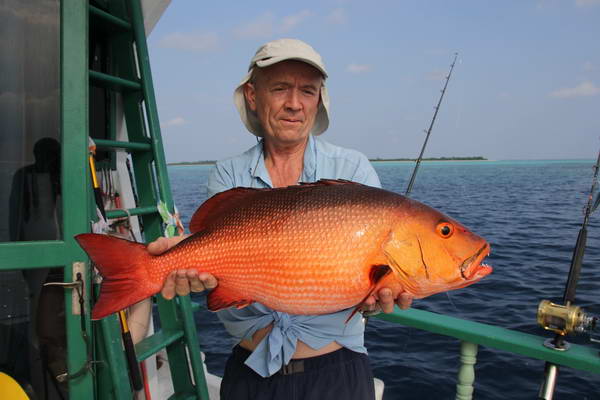
M64 222L65 282L73 281L74 262L85 261L87 256L73 236L89 230L88 199L89 170L88 153L88 18L87 2L62 0L61 2L61 115L62 115L62 199ZM68 212L67 212L68 211ZM89 311L90 271L89 264L83 279L87 283L85 307ZM93 393L93 375L82 370L88 356L88 346L82 335L82 316L71 312L73 289L65 290L67 365L69 374L82 375L69 380L69 397L90 398ZM91 323L83 321L88 340L92 340Z

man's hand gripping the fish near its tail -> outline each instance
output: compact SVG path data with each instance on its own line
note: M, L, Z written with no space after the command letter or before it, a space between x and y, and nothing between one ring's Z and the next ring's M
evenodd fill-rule
M159 256L188 236L189 235L158 238L154 242L148 244L148 253ZM217 278L209 273L198 273L195 269L180 269L171 272L167 276L160 293L165 299L171 300L176 294L185 296L190 292L202 292L207 289L216 288L217 284Z

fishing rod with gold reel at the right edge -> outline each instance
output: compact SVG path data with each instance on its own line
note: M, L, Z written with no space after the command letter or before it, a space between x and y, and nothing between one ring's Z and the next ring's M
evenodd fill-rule
M592 188L588 197L588 202L585 207L583 223L577 235L573 256L571 258L571 267L569 268L569 277L565 285L565 293L563 295L563 305L554 304L549 300L542 300L538 306L537 320L538 323L547 330L553 331L556 335L554 339L547 339L544 346L558 351L569 349L569 343L565 341L565 336L569 333L590 333L590 340L593 330L596 328L598 318L586 314L580 307L574 306L575 293L577 284L579 283L579 274L581 272L581 264L583 262L583 254L585 252L587 242L587 226L590 215L598 208L600 204L600 195L593 201L596 185L598 183L598 170L600 170L600 152L598 159L594 165L594 177L592 180ZM558 376L558 365L546 362L544 368L544 381L538 393L538 399L551 400L554 395L556 386L556 378Z

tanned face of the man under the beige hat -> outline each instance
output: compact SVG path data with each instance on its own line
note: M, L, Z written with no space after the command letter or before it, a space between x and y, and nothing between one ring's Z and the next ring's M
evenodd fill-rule
M301 61L282 61L259 71L244 88L265 140L282 145L308 137L319 108L322 75Z

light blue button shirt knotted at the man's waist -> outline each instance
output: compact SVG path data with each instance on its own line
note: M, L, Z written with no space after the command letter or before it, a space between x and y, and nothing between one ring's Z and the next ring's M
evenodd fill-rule
M347 179L381 187L377 173L362 153L310 136L304 152L300 181L315 182L319 179ZM236 157L217 162L208 178L208 195L237 186L272 187L265 166L262 141ZM225 329L239 340L250 339L257 330L273 324L273 329L246 360L246 365L267 377L289 363L298 340L315 350L335 341L350 350L366 353L362 316L357 314L345 323L352 311L346 309L327 315L291 315L253 303L241 310L228 308L219 311L218 316Z

